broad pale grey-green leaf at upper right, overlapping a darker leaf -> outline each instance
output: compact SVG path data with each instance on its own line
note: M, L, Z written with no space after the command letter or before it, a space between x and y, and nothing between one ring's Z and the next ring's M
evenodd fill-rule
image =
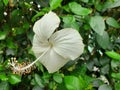
M105 22L101 16L91 17L89 24L97 34L103 35L105 30Z

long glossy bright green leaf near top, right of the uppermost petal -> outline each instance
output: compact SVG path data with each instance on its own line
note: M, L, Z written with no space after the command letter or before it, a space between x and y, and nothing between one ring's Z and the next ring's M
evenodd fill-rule
M69 3L69 7L70 7L70 10L76 14L76 15L88 15L92 12L91 9L88 9L88 8L84 8L82 7L80 4L76 3L76 2L71 2Z

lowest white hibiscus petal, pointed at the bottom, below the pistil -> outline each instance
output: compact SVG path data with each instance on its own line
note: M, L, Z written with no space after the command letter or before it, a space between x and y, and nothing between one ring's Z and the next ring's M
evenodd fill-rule
M49 73L58 71L68 61L68 59L57 54L52 48L49 49L40 59L40 62L47 68Z

